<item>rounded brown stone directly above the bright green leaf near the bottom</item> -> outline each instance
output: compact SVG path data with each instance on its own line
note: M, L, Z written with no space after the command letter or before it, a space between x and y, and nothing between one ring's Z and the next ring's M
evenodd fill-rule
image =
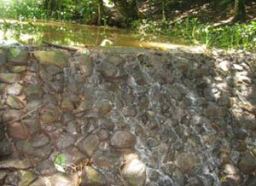
M62 133L59 137L56 137L55 139L55 146L58 149L64 149L76 142L76 137L73 137L72 135L68 133Z

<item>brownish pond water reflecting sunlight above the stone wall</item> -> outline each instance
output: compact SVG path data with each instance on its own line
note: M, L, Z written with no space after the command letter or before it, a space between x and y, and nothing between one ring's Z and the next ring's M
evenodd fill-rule
M0 20L0 44L41 45L43 41L79 47L112 46L177 49L189 45L179 38L138 34L106 26L83 26L60 22L18 22Z

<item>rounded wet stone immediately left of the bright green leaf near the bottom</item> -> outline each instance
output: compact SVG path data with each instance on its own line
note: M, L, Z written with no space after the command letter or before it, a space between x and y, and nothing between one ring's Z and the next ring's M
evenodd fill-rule
M49 176L56 172L55 165L50 160L44 160L42 162L38 162L36 166L36 170L38 174L42 176Z

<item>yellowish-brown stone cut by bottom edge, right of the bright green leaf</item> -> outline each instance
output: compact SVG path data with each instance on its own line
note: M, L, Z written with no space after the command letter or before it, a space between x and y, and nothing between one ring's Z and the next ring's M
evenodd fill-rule
M91 166L84 166L80 186L105 186L106 177Z

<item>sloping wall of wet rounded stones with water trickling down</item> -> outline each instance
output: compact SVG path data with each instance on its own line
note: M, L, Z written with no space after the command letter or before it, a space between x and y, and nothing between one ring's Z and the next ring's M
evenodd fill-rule
M256 184L255 55L0 49L0 184Z

